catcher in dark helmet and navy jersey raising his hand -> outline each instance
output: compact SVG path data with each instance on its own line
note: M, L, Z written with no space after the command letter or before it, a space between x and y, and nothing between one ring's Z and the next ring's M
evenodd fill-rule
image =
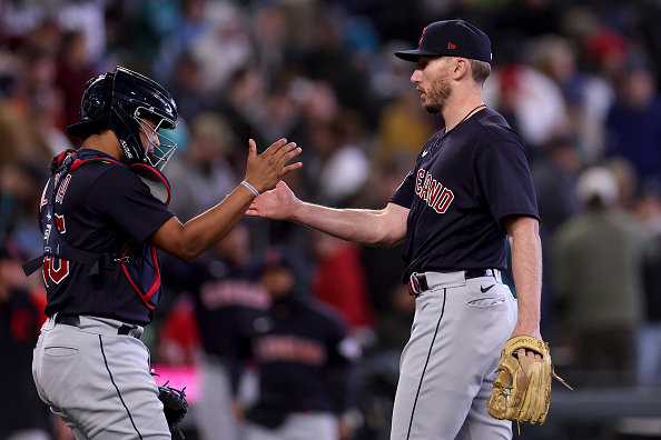
M181 224L156 168L176 147L161 132L177 124L167 90L118 67L88 82L81 117L68 131L82 147L53 160L40 204L49 319L34 350L34 382L78 439L169 439L139 340L161 294L156 249L193 260L259 192L300 167L287 164L300 149L282 139L257 154L250 140L243 184Z

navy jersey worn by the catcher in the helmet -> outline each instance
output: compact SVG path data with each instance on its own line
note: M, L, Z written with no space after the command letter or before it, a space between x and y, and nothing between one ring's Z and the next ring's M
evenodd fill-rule
M79 150L82 152L85 150ZM117 163L110 156L95 153L109 161L90 161L72 169L59 187L53 212L61 237L73 248L88 252L119 256L129 242L141 252L155 252L146 240L174 213L151 196L149 188L127 166ZM46 197L45 191L41 211L47 204ZM142 264L152 263L151 256L146 257L140 266L130 268L131 277L121 266L90 274L88 264L45 259L46 314L92 314L148 323L151 308L134 286L144 277Z

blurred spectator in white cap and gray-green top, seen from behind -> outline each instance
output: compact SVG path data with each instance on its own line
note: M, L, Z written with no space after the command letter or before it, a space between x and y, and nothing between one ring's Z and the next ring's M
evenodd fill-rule
M645 320L648 237L631 213L615 206L618 187L608 169L585 170L576 190L585 212L560 227L553 246L561 319L576 339L584 383L631 386L637 381L638 332Z

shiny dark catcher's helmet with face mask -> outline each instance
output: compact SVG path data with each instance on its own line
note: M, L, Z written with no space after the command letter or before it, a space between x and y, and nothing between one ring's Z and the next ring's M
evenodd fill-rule
M81 121L69 126L67 132L81 139L110 129L119 139L129 166L149 163L162 169L177 144L159 132L161 129L174 130L177 127L177 104L158 82L117 67L115 72L103 73L87 82L80 103ZM142 120L156 124L155 128ZM142 130L154 147L148 154L140 141ZM152 132L149 133L148 130ZM152 143L154 132L159 144Z

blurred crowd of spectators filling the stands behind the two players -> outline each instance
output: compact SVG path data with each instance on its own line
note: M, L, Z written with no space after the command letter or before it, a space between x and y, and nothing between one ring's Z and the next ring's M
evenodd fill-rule
M490 36L485 102L527 146L545 261L542 334L558 369L578 387L661 386L661 3L652 0L1 0L4 380L33 387L26 363L8 359L31 357L45 299L39 276L17 276L17 262L41 252L38 200L51 158L79 144L65 130L87 80L124 66L171 92L180 124L165 173L181 221L241 181L248 139L259 150L279 138L303 148L304 167L286 181L303 200L382 208L443 127L393 52L454 18ZM274 246L299 260L297 294L328 304L359 343L355 401L373 437L356 438L378 438L388 401L369 393L394 393L414 309L398 248L246 218L238 237L193 264L162 256L166 298L144 338L152 362L228 356L217 343L227 326L200 314L262 301L204 282L258 267ZM18 423L4 420L0 439Z

